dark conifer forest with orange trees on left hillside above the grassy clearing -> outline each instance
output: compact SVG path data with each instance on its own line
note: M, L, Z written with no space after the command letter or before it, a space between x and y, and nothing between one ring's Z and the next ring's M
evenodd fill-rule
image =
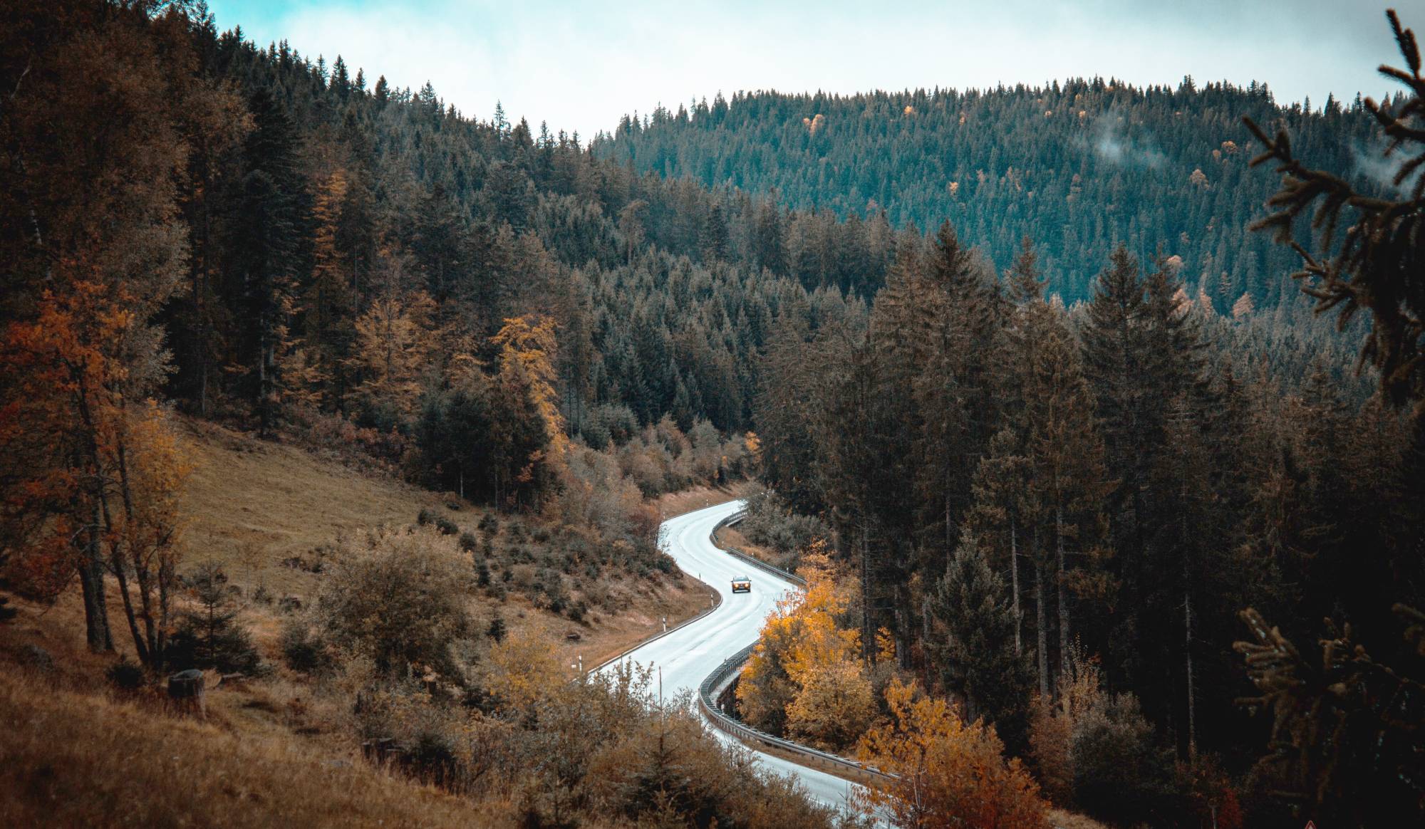
M761 266L791 221L772 202L597 161L499 107L467 118L201 9L4 23L6 319L38 319L64 269L94 276L144 332L114 355L134 400L532 504L560 434L750 427L771 320L807 298ZM815 221L841 282L881 279L885 221Z

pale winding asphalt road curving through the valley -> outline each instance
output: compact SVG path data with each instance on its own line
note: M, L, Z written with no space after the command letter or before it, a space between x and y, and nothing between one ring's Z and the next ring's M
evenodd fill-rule
M698 685L722 659L757 641L762 622L777 607L777 600L798 585L750 567L712 546L712 530L720 521L742 509L741 501L717 504L663 523L663 548L678 567L712 585L722 595L717 610L693 622L624 654L617 662L634 661L663 672L663 695L683 691L697 695ZM732 580L748 575L751 593L732 593ZM657 674L656 674L657 675ZM657 681L657 679L656 679ZM715 728L712 734L731 745L742 746ZM752 752L764 769L795 778L811 798L825 806L844 809L855 783L826 772L809 769L770 754Z

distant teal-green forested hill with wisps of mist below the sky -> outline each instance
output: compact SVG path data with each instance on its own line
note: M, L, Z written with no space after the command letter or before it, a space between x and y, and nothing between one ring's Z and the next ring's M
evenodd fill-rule
M1318 103L1320 105L1320 103ZM903 93L718 95L691 110L626 117L594 152L641 172L771 194L788 207L892 226L953 224L1007 264L1033 236L1046 289L1087 299L1119 244L1139 259L1183 259L1191 295L1218 313L1248 296L1278 302L1291 251L1247 232L1271 182L1248 171L1241 117L1285 127L1302 158L1355 179L1385 179L1384 147L1359 100L1280 107L1264 84L1139 88L1113 78L1046 87ZM1371 181L1379 189L1382 182ZM814 254L809 217L782 228L765 264L808 286L835 283ZM879 283L855 285L862 295Z

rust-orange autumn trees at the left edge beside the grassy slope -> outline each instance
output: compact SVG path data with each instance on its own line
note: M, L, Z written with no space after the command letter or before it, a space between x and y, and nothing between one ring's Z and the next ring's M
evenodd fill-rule
M9 575L24 593L54 598L78 567L117 578L134 647L158 662L177 577L178 494L188 474L167 414L134 402L133 340L147 329L123 288L78 279L46 291L36 318L4 330ZM19 463L24 460L27 463ZM93 591L91 591L93 593ZM101 608L103 605L100 605ZM98 620L107 628L105 620ZM104 631L107 637L107 630Z

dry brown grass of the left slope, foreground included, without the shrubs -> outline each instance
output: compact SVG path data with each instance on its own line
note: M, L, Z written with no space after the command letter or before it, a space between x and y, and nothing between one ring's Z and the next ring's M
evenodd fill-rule
M312 558L338 533L409 524L422 509L462 528L484 514L218 426L190 422L187 432L195 469L184 501L185 567L215 561L229 573L242 590L241 615L274 664L281 614L251 601L254 590L309 601L321 580L284 560ZM668 514L731 494L673 499ZM510 635L556 640L570 662L581 655L591 665L661 630L664 615L673 624L698 612L708 594L693 578L608 574L607 583L614 608L583 625L514 593L503 603L480 597L475 612L497 611ZM152 698L113 695L103 672L114 657L86 651L77 590L53 607L16 607L20 615L0 625L0 826L490 825L467 802L369 766L346 726L346 704L285 669L211 691L208 716L195 722ZM133 652L120 608L111 585L115 642ZM571 631L579 641L567 640ZM24 645L48 651L54 669L21 668Z

